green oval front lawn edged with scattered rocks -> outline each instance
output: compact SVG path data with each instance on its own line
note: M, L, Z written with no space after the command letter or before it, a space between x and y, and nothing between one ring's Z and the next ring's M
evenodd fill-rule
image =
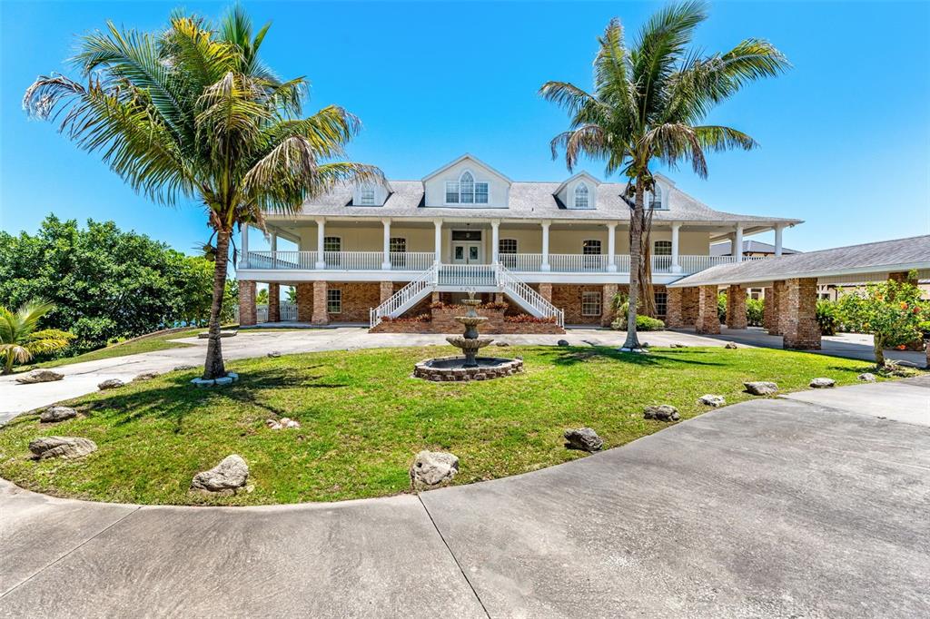
M493 349L492 349L493 350ZM750 399L744 380L805 389L815 376L857 382L866 362L772 349L511 347L526 372L487 382L430 383L410 377L432 349L368 349L229 363L241 375L224 389L193 389L196 373L174 372L73 401L83 416L55 426L21 415L0 428L0 475L60 496L145 504L259 505L403 493L422 449L458 454L456 483L550 467L585 454L564 447L565 428L591 426L605 448L661 428L643 407L668 402L686 419L706 412L705 393ZM302 428L274 431L288 416ZM80 436L98 452L74 461L29 458L29 441ZM190 494L193 475L228 454L249 464L251 493Z

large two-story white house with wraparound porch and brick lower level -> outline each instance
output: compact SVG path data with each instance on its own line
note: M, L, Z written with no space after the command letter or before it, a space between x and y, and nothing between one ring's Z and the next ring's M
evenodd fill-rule
M751 234L775 230L780 255L782 230L801 223L716 211L671 178L657 179L648 205L659 314L665 284L742 260L736 249ZM610 323L609 301L630 282L623 191L586 172L561 182L512 180L469 154L419 180L345 186L297 216L269 216L270 251L253 250L243 234L240 321L256 322L256 283L268 283L270 322L283 317L279 290L290 285L298 307L286 318L302 323L403 323L469 291L505 301L513 324ZM298 250L278 251L279 239ZM732 242L732 256L711 254L722 239Z

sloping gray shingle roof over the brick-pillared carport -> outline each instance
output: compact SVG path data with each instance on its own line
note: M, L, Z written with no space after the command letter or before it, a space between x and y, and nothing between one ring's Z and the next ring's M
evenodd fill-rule
M830 277L911 269L930 269L930 235L724 264L688 275L670 285L770 282L793 277Z

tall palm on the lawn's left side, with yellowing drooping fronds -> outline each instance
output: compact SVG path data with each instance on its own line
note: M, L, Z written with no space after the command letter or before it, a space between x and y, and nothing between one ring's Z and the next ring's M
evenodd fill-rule
M233 7L214 28L173 14L161 33L118 30L80 41L71 60L84 83L42 76L23 106L61 118L60 132L136 191L161 204L195 200L216 236L205 378L226 374L219 317L233 230L264 228L269 211L299 212L340 182L379 181L378 168L334 162L360 125L329 106L301 117L303 78L282 81L259 60L266 24Z

